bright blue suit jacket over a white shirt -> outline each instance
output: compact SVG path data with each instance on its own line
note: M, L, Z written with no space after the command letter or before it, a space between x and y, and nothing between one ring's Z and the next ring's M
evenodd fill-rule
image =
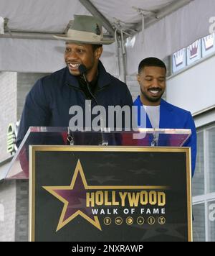
M143 106L140 96L134 101L134 106ZM138 124L140 124L140 112L138 111ZM152 128L151 122L146 115L146 128ZM161 129L191 129L191 137L183 145L191 147L192 175L196 166L196 127L194 119L189 111L173 106L161 99L160 125Z

